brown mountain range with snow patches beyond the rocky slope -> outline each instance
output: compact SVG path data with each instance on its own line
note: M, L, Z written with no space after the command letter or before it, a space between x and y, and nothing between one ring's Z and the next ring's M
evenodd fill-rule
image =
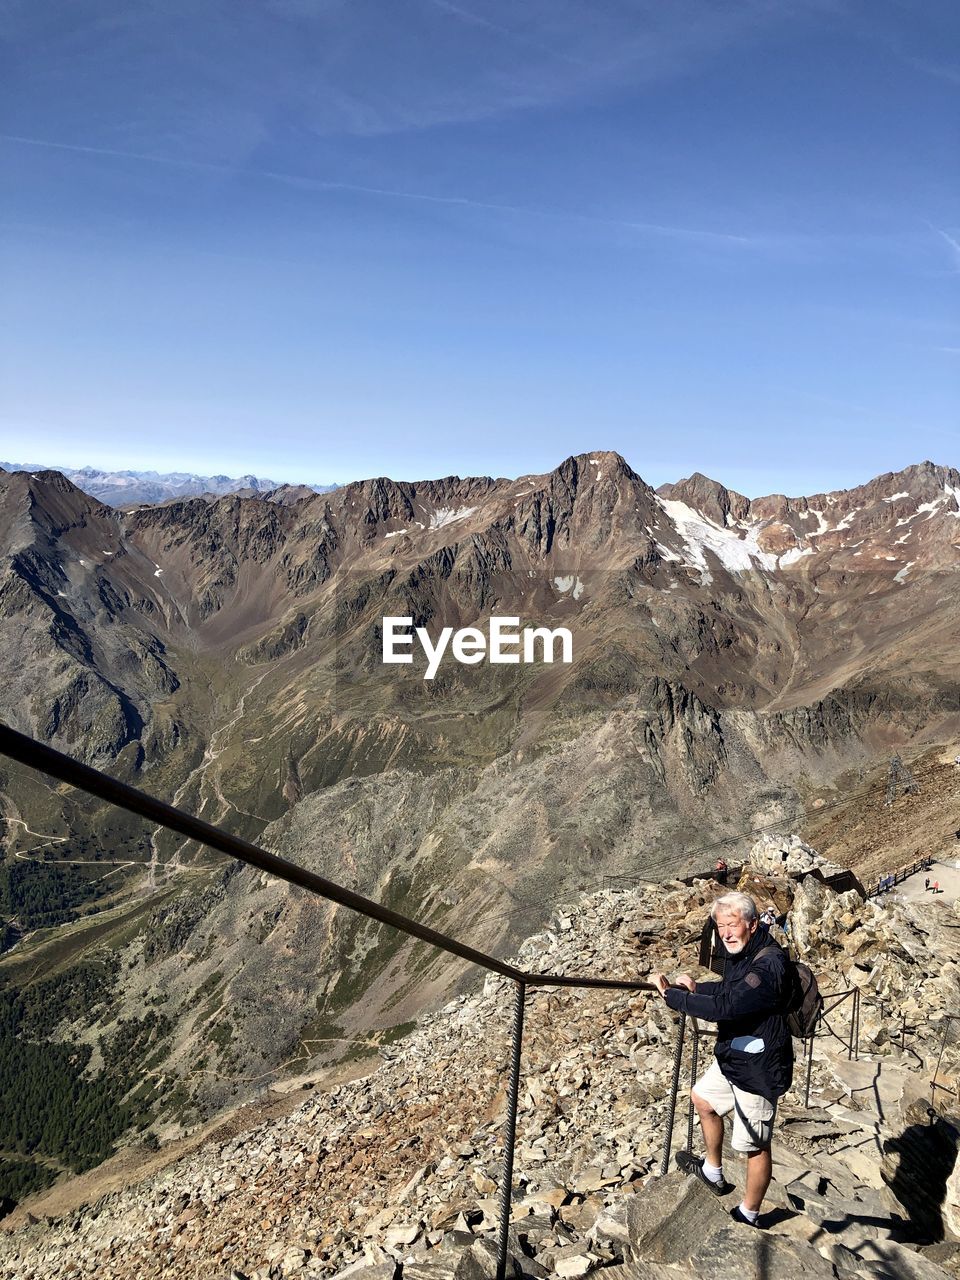
M0 714L474 946L506 954L605 876L736 856L960 733L954 468L750 500L701 475L654 490L598 452L280 494L118 511L0 474ZM420 658L383 664L388 616L566 627L573 660L425 681ZM343 1064L462 980L4 762L0 804L0 996L26 1001L38 1073L81 1046L116 1098L81 1164L124 1124L173 1132Z

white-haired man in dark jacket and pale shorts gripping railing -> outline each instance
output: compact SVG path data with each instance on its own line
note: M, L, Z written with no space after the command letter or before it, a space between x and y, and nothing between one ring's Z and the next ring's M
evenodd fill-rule
M758 920L748 893L724 893L710 909L727 954L719 982L694 982L689 974L672 987L652 975L671 1009L717 1023L713 1062L692 1088L707 1157L681 1151L677 1164L717 1196L733 1187L723 1176L723 1116L733 1112L731 1144L746 1156L746 1189L731 1211L736 1222L756 1226L771 1181L771 1138L777 1098L794 1074L794 1042L786 1024L792 993L785 951Z

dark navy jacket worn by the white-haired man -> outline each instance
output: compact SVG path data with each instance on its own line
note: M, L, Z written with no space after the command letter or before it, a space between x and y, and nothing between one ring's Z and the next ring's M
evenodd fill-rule
M788 965L760 924L740 955L727 956L719 982L698 982L695 993L682 987L666 993L671 1009L717 1023L716 1053L724 1076L771 1102L794 1078L794 1041L785 1016L792 991Z

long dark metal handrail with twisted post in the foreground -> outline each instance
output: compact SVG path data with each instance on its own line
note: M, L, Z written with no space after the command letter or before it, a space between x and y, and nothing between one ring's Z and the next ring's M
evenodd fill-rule
M173 805L165 804L163 800L156 800L145 791L138 791L136 787L131 787L124 782L118 782L106 773L101 773L100 769L93 769L88 764L81 764L69 755L55 751L52 748L45 746L42 742L37 742L32 737L27 737L24 733L18 733L6 724L0 724L0 754L6 755L12 760L17 760L20 764L26 764L28 768L36 769L40 773L46 773L52 778L58 778L60 782L68 783L68 786L79 787L82 791L99 796L101 800L105 800L108 804L113 804L119 809L125 809L128 813L138 814L141 818L146 818L160 827L175 831L178 835L186 836L188 840L196 840L198 844L206 845L209 849L216 849L219 852L236 858L242 863L247 863L250 867L256 867L262 872L268 872L270 876L276 876L279 879L287 881L289 884L297 884L301 888L310 890L311 893L319 893L321 897L325 897L332 902L338 902L340 906L346 906L351 911L358 911L361 915L379 920L381 924L387 924L390 928L401 929L403 933L420 938L422 942L429 942L431 946L438 947L440 951L447 951L449 955L457 956L460 960L466 960L470 964L479 965L481 969L486 969L490 973L498 973L500 977L508 978L516 984L511 1074L507 1097L507 1121L504 1125L503 1139L503 1171L500 1175L499 1224L497 1238L497 1280L504 1280L507 1272L507 1231L509 1228L512 1198L513 1148L517 1130L517 1101L520 1093L520 1061L524 1041L524 1006L526 988L586 987L614 991L657 991L657 987L649 982L625 982L617 978L589 978L585 975L571 977L570 974L558 973L526 973L522 969L506 964L503 960L497 960L494 956L486 955L484 951L477 951L475 947L465 946L462 942L448 937L445 933L440 933L438 929L431 929L426 924L411 920L408 916L401 915L399 911L392 911L389 908L381 906L379 902L375 902L369 897L364 897L360 893L355 893L351 890L344 888L342 884L337 884L334 881L325 879L323 876L317 876L303 867L297 867L296 863L288 863L287 859L278 858L276 854L270 854L265 849L260 849L259 845L252 845L250 841L241 840L238 836L230 836L219 827L214 827L211 823L202 822L200 818L183 813L183 810L175 809Z

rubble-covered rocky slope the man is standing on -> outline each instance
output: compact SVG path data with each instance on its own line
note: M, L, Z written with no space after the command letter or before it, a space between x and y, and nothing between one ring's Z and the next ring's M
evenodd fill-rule
M960 1036L952 1030L960 916L946 896L936 906L863 902L814 878L799 886L778 878L783 867L796 873L815 861L795 837L768 837L748 874L788 899L791 940L822 989L860 988L860 1052L847 1056L846 1000L829 1014L833 1034L815 1041L809 1106L801 1062L781 1102L763 1229L731 1221L736 1192L717 1199L673 1169L659 1176L676 1028L659 997L534 991L511 1275L517 1267L532 1276L602 1271L607 1280L960 1275ZM590 895L558 910L517 963L626 978L695 970L718 892L695 881ZM29 1216L23 1206L0 1233L0 1275L493 1276L512 996L511 983L488 977L384 1047L364 1079L225 1132L64 1216L38 1216L38 1201ZM901 1019L906 1046L892 1034ZM684 1088L689 1064L685 1073ZM681 1094L673 1151L685 1144ZM730 1153L724 1167L741 1190L737 1157Z

